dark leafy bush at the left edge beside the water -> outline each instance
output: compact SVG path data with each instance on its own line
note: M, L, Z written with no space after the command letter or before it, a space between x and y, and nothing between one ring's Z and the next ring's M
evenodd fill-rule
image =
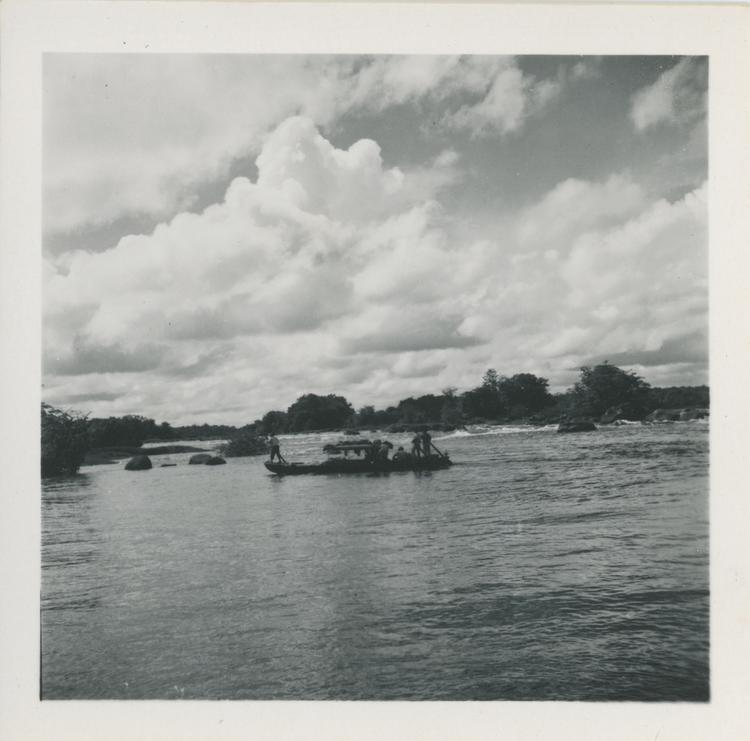
M42 476L74 474L88 450L86 417L42 404Z

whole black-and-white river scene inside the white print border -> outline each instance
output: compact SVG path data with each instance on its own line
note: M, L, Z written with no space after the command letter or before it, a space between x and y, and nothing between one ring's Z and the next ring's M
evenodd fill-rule
M707 702L708 70L46 53L41 699Z

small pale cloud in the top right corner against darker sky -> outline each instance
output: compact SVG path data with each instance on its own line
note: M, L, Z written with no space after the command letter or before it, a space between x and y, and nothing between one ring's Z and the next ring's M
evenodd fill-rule
M658 124L694 123L705 115L708 63L685 57L634 96L630 117L638 131Z

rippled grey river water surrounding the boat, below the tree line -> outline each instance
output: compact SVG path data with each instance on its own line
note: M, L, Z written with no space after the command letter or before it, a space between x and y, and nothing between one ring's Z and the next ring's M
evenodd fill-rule
M708 698L706 425L440 444L420 474L45 482L44 697Z

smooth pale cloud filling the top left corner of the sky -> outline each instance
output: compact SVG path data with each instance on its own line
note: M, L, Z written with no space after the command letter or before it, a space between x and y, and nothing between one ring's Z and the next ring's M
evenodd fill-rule
M290 75L281 58L266 64L290 84L269 91L257 65L232 56L47 56L46 229L189 205L193 186L223 175L304 99L313 75Z

